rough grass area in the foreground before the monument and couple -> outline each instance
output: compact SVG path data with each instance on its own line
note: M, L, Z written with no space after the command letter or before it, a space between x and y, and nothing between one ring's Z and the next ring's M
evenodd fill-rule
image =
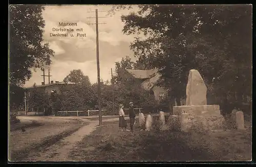
M135 126L131 133L120 132L116 121L98 127L76 148L70 157L79 161L242 161L251 159L251 131L147 132Z

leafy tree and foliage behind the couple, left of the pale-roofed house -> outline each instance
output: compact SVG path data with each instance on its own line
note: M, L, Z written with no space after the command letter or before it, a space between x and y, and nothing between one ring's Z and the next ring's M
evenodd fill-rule
M130 57L122 58L120 62L116 62L116 75L112 79L113 87L104 87L104 93L103 98L108 99L106 101L112 101L112 93L114 91L114 110L118 109L118 105L120 103L124 104L125 106L129 106L129 102L133 101L136 106L140 107L152 107L156 106L157 103L154 99L154 97L151 97L149 95L148 91L143 90L141 88L141 83L137 82L135 79L126 79L126 77L123 77L125 74L124 71L126 69L145 69L143 67L143 64L140 62L132 62ZM109 108L113 108L113 102L108 103L106 102L106 106L109 106Z

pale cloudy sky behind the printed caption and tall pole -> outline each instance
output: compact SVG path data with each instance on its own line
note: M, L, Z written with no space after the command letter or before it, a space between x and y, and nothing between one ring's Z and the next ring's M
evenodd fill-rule
M50 48L55 51L52 58L51 78L54 82L62 81L71 70L81 69L84 75L88 75L91 82L97 82L97 65L96 65L96 31L95 12L88 11L108 11L112 6L46 6L42 16L45 20L44 41L49 42ZM121 15L127 15L133 10L122 10L116 12L113 16L108 16L107 12L99 12L99 55L100 55L100 78L105 80L111 79L111 68L115 69L115 62L120 61L128 55L132 60L136 60L133 51L130 50L130 42L135 36L124 35L122 28L124 23L121 21ZM86 37L50 37L53 28L60 28L59 22L76 22L77 26L66 26L65 28L82 28ZM64 32L59 32L64 33ZM40 85L43 81L42 71L39 69L33 72L32 77L26 82L25 87L32 86L34 82ZM48 84L48 78L46 78Z

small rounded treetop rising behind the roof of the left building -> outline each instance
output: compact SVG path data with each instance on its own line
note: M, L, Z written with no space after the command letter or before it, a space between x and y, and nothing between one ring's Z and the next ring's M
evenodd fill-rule
M65 82L74 82L77 85L90 86L90 79L88 76L84 76L83 72L78 70L70 71L70 74L64 78Z

